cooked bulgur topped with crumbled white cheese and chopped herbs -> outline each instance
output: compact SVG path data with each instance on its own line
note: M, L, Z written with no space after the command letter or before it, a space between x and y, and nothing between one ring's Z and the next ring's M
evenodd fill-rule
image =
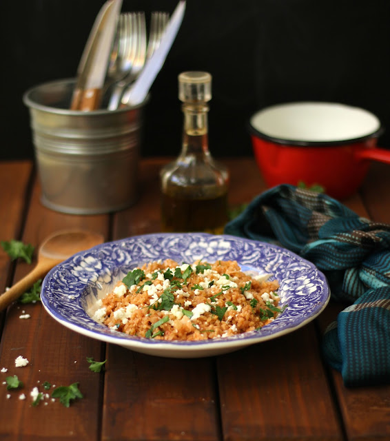
M236 261L153 262L129 271L94 319L132 336L207 340L253 331L280 313L278 281L249 276Z

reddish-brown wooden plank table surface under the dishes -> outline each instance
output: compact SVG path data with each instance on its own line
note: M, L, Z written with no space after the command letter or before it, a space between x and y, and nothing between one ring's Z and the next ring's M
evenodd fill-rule
M106 240L158 232L158 171L166 161L142 161L136 205L96 216L43 207L32 163L0 163L0 240L38 247L48 234L69 227L101 232ZM263 192L252 158L224 162L232 174L232 206ZM390 223L389 189L388 166L375 164L359 194L343 202L362 216ZM29 269L0 249L0 291ZM7 391L0 384L0 440L390 440L390 387L347 389L321 358L322 332L340 309L330 302L316 320L276 340L181 360L81 336L54 321L40 302L16 302L0 314L0 369L8 369L0 380L17 375L24 386ZM19 318L23 311L31 317ZM19 355L28 358L28 366L15 367ZM107 359L105 372L90 371L87 357ZM30 391L43 390L45 381L79 382L83 398L68 408L48 399L32 407ZM21 393L25 400L19 400Z

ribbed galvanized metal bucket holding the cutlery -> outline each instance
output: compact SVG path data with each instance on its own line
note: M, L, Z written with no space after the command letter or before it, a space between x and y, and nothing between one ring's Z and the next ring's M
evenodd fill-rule
M123 209L138 197L143 107L69 110L73 79L38 85L29 107L43 205L70 214Z

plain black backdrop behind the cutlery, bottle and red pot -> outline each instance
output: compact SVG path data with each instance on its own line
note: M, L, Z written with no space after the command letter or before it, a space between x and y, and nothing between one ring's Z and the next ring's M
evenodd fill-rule
M31 158L22 96L75 75L103 0L1 1L0 158ZM123 0L123 11L172 13L177 0ZM252 155L246 123L255 110L286 101L365 107L390 147L389 0L187 0L181 30L145 112L142 155L176 155L182 115L177 76L213 76L209 146L214 156Z

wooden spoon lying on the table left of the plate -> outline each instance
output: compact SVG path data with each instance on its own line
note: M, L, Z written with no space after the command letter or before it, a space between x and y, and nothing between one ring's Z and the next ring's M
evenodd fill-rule
M17 300L37 280L43 278L48 271L69 258L75 253L89 249L103 243L101 234L83 230L64 230L56 232L46 238L38 251L38 263L19 282L15 283L8 291L0 296L0 311Z

